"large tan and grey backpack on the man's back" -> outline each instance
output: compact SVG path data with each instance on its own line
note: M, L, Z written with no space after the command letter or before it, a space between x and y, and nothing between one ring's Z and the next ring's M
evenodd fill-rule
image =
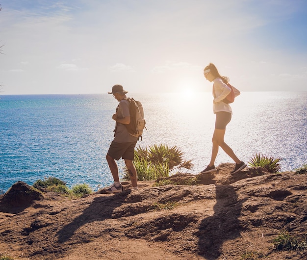
M146 124L144 119L144 110L141 102L134 100L133 98L125 99L129 102L130 123L125 125L129 134L135 137L141 137Z

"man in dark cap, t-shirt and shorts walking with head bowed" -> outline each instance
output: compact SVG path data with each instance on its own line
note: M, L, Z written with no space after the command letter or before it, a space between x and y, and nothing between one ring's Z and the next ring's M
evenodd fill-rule
M112 92L113 97L119 102L116 113L113 114L112 119L116 121L114 139L109 147L106 155L106 160L110 167L114 183L106 190L107 193L118 193L123 191L123 186L119 180L118 166L115 160L121 157L125 160L126 167L129 172L132 189L137 188L136 169L133 165L134 147L138 137L129 134L125 125L130 123L129 102L125 100L128 91L123 89L122 85L114 85Z

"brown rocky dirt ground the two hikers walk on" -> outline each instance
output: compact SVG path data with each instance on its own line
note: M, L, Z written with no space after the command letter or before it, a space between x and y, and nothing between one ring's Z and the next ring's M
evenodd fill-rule
M306 260L277 250L307 235L307 175L233 164L69 200L17 182L0 196L0 256L18 260ZM187 185L192 184L194 185ZM197 183L197 184L196 184ZM306 240L305 240L306 241Z

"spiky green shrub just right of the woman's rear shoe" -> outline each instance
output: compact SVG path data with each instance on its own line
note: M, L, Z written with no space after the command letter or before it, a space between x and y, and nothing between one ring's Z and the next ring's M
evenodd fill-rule
M266 156L262 154L256 154L249 158L248 164L252 167L263 167L270 173L277 173L281 170L279 162L282 160L281 157L274 158L273 156Z

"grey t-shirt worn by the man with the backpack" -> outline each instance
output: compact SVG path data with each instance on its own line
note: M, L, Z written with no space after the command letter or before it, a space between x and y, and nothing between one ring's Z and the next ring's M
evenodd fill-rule
M126 116L130 116L129 102L127 100L120 101L120 103L118 104L116 115L119 118L124 118ZM116 127L115 137L113 139L113 142L128 143L128 142L136 142L137 141L138 138L129 134L129 132L128 132L128 130L127 130L127 128L124 124L120 124L118 122L116 122L116 124L117 124L117 127Z

